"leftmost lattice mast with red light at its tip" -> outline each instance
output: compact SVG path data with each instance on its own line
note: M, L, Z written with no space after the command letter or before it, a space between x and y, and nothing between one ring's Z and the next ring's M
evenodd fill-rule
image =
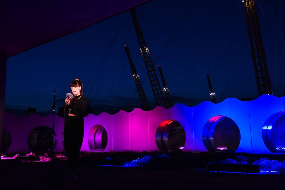
M137 73L137 69L135 67L135 64L134 64L132 58L131 58L131 54L130 54L130 51L129 51L129 48L127 47L127 45L125 45L125 50L127 52L127 56L128 56L128 59L129 59L129 63L130 63L130 67L131 67L131 70L132 70L133 78L134 78L135 84L137 86L137 91L138 91L138 94L140 96L141 103L143 105L143 110L148 111L148 110L150 110L149 105L148 105L148 101L146 99L146 96L145 96L145 93L144 93L144 90L143 90L143 86L142 86L139 74Z

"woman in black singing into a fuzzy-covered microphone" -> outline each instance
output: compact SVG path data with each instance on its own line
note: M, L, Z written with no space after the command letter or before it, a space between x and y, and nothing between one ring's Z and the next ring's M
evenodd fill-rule
M74 97L68 96L65 99L65 110L68 111L64 122L64 150L69 162L71 178L76 178L76 171L79 168L79 152L83 141L84 119L88 100L83 96L83 84L79 78L70 83Z

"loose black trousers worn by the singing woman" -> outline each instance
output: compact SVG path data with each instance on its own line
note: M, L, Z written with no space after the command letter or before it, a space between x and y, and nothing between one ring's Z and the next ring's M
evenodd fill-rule
M84 119L80 116L67 116L64 122L64 151L69 162L70 173L76 173L79 166L79 153L83 142Z

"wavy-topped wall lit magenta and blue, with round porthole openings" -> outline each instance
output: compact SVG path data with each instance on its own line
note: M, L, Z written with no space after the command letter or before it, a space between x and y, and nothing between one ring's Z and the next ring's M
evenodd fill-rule
M129 113L121 110L114 115L106 112L98 116L89 114L84 118L84 139L81 151L91 151L88 135L90 129L97 124L105 128L108 143L105 150L92 150L93 152L159 151L155 142L156 129L161 122L168 119L176 120L184 127L186 142L183 151L207 151L202 140L203 127L210 118L223 115L231 118L239 127L241 142L236 152L271 153L263 143L262 126L269 116L284 110L284 97L263 95L249 102L227 98L218 104L202 102L194 107L176 104L170 109L158 106L148 112L136 108ZM46 117L36 114L17 117L5 113L4 128L12 137L7 153L29 152L28 134L41 125L52 127L52 114ZM55 116L56 152L63 151L63 125L64 119Z

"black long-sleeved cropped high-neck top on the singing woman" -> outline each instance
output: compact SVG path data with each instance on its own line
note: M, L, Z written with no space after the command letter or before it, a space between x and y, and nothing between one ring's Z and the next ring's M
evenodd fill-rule
M66 106L66 109L70 109L69 113L71 114L83 117L87 108L88 100L84 96L81 96L80 98L79 97L80 95L74 96L74 98L76 98L76 102L75 99L72 98L70 100L69 106Z

